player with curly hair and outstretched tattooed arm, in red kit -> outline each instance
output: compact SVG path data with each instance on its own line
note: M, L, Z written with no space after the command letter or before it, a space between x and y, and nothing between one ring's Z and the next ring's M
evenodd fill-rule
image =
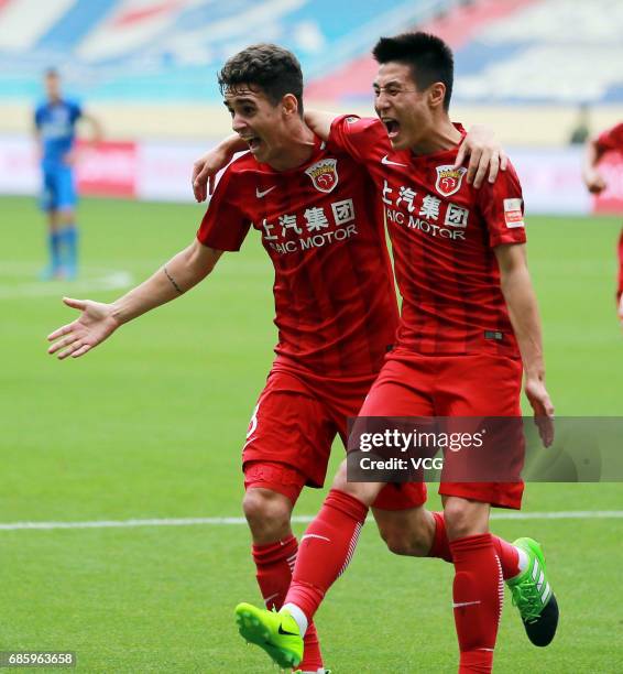
M397 303L382 213L363 166L329 150L303 121L303 77L289 52L249 47L219 81L236 133L249 153L222 175L196 240L112 304L65 298L80 317L50 336L51 354L87 354L122 324L205 279L251 228L274 269L276 359L243 449L244 514L265 604L280 608L297 542L293 507L305 485L320 487L334 437L346 439L391 348ZM433 526L411 486L387 486L375 502L382 534L419 540ZM404 544L403 544L404 545ZM324 672L313 628L306 672Z

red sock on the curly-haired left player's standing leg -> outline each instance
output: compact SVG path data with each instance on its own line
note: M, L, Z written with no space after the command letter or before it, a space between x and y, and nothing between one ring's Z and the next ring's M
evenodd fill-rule
M298 544L294 536L276 543L252 546L253 562L258 569L255 577L269 610L274 607L278 611L283 606L292 580L292 569L297 551ZM304 644L304 655L299 667L303 671L315 672L323 666L323 654L316 626L313 622L305 632Z

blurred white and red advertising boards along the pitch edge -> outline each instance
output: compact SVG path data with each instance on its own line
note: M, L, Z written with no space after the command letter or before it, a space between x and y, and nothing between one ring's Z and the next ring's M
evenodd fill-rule
M192 202L193 161L205 144L143 140L81 146L78 188L83 195ZM591 197L581 181L581 148L515 148L509 154L524 188L526 213L623 213L623 160L605 157L608 191ZM0 194L35 196L39 171L32 140L0 135Z

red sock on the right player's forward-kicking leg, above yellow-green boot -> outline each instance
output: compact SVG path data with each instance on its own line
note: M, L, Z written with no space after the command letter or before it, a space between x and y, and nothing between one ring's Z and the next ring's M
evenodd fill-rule
M368 507L358 499L337 489L329 491L300 539L284 604L296 604L312 620L325 593L346 570L367 514Z

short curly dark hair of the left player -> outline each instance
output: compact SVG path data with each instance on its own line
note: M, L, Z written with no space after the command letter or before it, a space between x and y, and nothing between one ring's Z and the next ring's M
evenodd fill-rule
M227 61L218 75L220 93L241 85L261 89L276 106L293 94L303 117L303 72L296 56L276 44L254 44Z

